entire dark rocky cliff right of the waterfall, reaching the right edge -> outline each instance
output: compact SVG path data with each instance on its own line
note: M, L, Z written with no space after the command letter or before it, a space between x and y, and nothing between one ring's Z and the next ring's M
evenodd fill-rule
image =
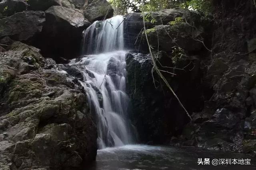
M256 9L249 0L228 3L214 1L213 22L179 9L150 14L156 26L146 22L149 43L165 51L154 55L156 63L192 121L152 72L150 56L132 51L127 83L142 141L255 154ZM126 16L126 29L137 28L126 32L126 43L147 51L141 20L140 13Z

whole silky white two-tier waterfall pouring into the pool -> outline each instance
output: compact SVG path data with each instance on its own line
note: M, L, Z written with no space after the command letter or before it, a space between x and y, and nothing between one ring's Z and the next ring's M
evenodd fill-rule
M98 128L98 148L132 143L128 119L123 17L95 21L84 31L84 55L70 65L84 66L84 87Z

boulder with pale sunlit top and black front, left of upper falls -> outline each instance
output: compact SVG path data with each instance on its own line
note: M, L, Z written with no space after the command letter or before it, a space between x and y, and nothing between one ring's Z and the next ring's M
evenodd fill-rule
M82 31L90 22L80 12L62 6L46 10L42 41L38 47L45 54L74 58L79 53Z

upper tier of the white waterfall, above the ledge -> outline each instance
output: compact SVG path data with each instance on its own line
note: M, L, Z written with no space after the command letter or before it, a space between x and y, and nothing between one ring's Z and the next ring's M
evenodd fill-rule
M97 54L124 49L123 16L95 21L84 32L83 54Z

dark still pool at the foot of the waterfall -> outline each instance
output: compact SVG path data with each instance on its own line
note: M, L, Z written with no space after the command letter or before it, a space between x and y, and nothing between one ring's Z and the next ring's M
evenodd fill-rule
M210 165L198 165L210 160ZM206 158L206 160L204 159ZM219 160L219 159L224 160ZM212 160L216 166L212 165ZM236 160L234 160L236 159ZM240 160L238 160L240 159ZM247 160L246 160L247 159ZM251 165L246 165L249 164ZM238 165L242 163L244 165ZM222 165L221 165L222 164ZM224 164L224 165L223 165ZM226 165L229 164L229 165ZM230 165L231 164L231 165ZM234 165L236 164L236 165ZM86 170L253 170L255 158L246 154L200 150L190 147L158 147L148 145L125 145L98 150L96 162Z

